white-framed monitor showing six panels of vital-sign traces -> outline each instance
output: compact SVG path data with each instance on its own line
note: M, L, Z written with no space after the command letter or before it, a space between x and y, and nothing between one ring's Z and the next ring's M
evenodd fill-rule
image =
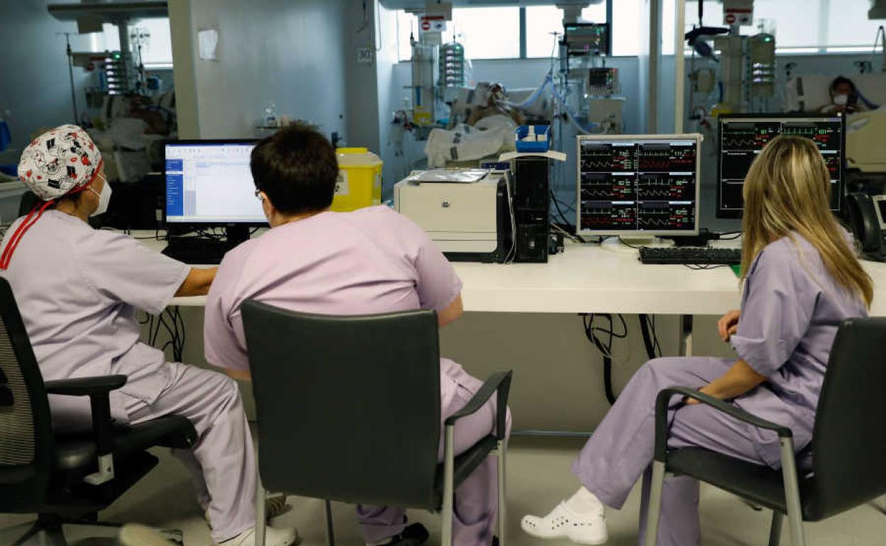
M702 135L578 137L579 235L698 235Z

